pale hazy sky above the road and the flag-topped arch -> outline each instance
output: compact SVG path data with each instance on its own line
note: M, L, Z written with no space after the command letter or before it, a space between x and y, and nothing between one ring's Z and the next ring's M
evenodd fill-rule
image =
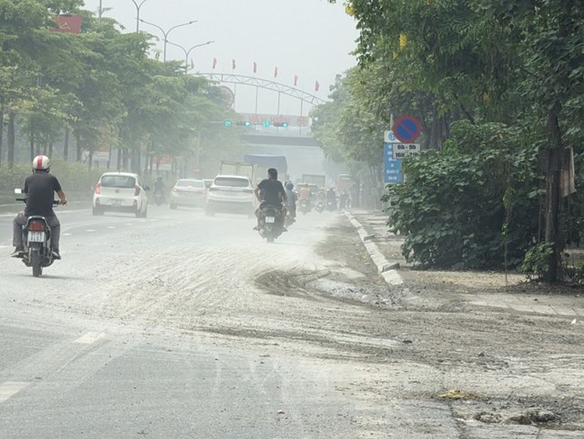
M124 31L136 31L137 5L142 0L101 1L104 17L120 22ZM86 0L84 8L97 13L99 4L100 0ZM297 76L298 89L323 100L335 76L357 64L350 52L356 46L358 31L354 20L345 14L342 0L337 4L326 0L146 0L140 7L140 19L164 31L197 20L167 33L168 41L186 50L214 41L190 51L192 71L255 75L289 86L294 85ZM139 22L139 28L159 37L156 47L163 59L163 32L144 22ZM166 59L184 62L184 51L169 44ZM278 77L274 79L275 67ZM316 82L320 84L318 92L314 90ZM233 84L226 85L233 90ZM255 87L238 85L235 92L235 110L255 112ZM257 96L258 113L276 114L277 92L260 90ZM301 110L306 115L310 106L305 104L301 109L299 101L280 96L281 115L297 116Z

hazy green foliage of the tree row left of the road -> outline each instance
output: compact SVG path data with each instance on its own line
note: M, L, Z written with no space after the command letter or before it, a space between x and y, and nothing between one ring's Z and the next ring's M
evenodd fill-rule
M82 6L0 0L0 161L4 145L12 166L63 142L67 158L69 133L78 162L89 154L91 165L106 145L119 148L119 169L138 172L158 154L191 168L217 139L226 150L239 145L236 130L220 133L213 124L229 113L213 83L148 57L152 36L121 33L117 22ZM82 14L81 33L51 31L62 13Z

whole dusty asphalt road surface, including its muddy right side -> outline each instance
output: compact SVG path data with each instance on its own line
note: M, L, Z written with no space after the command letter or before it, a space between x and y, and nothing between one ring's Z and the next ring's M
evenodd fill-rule
M581 331L545 320L526 337L543 319L403 309L336 213L268 244L240 215L58 209L63 260L40 278L0 264L2 439L582 437ZM482 395L438 398L461 377ZM530 401L571 429L491 413Z

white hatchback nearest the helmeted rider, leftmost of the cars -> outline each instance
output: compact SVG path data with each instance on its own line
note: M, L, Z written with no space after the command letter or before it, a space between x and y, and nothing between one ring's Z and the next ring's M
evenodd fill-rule
M107 211L129 212L137 218L146 218L148 198L137 174L130 172L105 172L93 189L93 215Z

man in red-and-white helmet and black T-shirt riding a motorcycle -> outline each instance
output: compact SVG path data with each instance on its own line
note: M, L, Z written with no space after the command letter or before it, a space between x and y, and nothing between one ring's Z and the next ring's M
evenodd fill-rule
M32 215L44 216L50 227L50 241L53 247L53 258L61 259L59 254L59 238L61 223L53 211L54 193L57 192L58 204L66 205L66 196L57 177L51 175L49 157L37 155L32 161L32 175L24 180L22 193L26 195L26 207L13 219L13 258L22 258L22 226L26 225L28 217Z

